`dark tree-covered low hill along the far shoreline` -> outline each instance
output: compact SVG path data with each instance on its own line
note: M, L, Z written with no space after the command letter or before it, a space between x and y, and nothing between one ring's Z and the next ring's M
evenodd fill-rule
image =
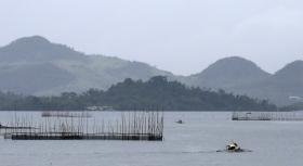
M160 108L167 111L273 111L276 106L224 90L188 88L177 81L157 76L148 81L130 78L107 91L90 89L80 94L64 92L60 97L34 97L0 93L0 110L84 110L93 105L110 105L115 110Z

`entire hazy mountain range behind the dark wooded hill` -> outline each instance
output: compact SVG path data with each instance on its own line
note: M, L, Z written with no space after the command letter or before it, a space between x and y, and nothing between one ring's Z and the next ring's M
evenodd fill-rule
M141 62L88 55L40 36L21 38L0 48L0 91L44 95L90 88L105 90L126 78L148 80L153 76L267 99L277 105L303 99L303 61L290 63L272 75L251 61L232 56L216 61L201 73L175 76Z

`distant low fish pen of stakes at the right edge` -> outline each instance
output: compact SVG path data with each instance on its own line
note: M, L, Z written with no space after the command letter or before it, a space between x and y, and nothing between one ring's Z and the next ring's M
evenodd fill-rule
M303 112L234 112L233 120L303 120Z

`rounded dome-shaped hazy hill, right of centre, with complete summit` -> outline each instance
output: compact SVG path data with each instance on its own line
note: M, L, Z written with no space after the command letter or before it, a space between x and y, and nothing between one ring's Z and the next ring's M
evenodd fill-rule
M235 87L252 84L269 77L253 62L238 56L216 61L199 74L192 75L188 84L199 87L230 90Z

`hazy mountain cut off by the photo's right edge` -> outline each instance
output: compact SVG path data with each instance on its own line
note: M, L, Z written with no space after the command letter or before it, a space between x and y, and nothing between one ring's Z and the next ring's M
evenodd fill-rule
M251 89L245 88L248 94L268 99L277 105L295 103L303 97L303 61L286 65L269 78L254 84Z

